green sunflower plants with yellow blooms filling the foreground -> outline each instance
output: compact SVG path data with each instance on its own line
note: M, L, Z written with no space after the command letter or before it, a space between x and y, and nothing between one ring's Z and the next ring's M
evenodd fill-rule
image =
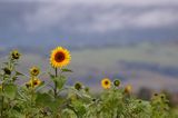
M1 67L0 118L178 118L166 95L155 94L149 101L138 99L130 85L120 87L119 79L103 78L103 90L97 96L80 82L68 86L65 73L72 72L67 68L71 56L63 47L50 55L50 88L40 79L38 66L28 69L29 73L18 71L20 58L21 53L12 50ZM19 85L22 76L28 81Z

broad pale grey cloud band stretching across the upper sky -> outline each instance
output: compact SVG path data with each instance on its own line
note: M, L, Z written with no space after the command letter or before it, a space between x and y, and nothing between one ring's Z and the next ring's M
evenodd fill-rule
M70 1L70 0L68 0ZM80 0L78 0L80 1ZM98 0L100 1L100 0ZM134 0L138 3L140 0ZM130 1L134 3L134 1ZM146 0L148 2L148 0ZM159 1L159 2L158 2ZM175 0L171 0L175 1ZM88 1L89 2L89 1ZM100 3L47 3L40 4L33 12L24 14L24 22L29 31L60 27L63 30L107 32L129 28L161 28L178 24L178 4L158 3L155 6L129 6L129 0ZM120 4L125 3L125 4ZM142 3L142 2L140 2ZM154 3L150 0L148 3Z

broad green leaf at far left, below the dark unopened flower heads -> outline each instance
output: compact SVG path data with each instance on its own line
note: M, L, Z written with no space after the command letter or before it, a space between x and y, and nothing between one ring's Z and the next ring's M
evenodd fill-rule
M18 90L17 86L14 86L12 83L7 85L7 86L4 86L4 96L10 99L14 99L17 90Z

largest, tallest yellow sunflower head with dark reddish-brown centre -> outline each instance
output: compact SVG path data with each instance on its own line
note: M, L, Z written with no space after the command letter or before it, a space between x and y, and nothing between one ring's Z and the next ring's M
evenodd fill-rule
M70 52L62 48L57 47L51 51L50 63L53 68L62 68L70 62Z

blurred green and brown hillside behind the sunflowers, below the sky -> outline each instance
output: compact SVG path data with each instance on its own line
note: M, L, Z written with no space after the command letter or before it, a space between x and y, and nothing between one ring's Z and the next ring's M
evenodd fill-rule
M36 50L36 49L32 49ZM137 85L154 88L177 90L178 83L178 46L177 43L131 45L125 47L88 48L71 50L71 68L69 83L82 81L87 86L98 88L100 80L109 77L118 78L125 85ZM28 73L28 68L37 65L42 71L49 71L50 50L24 51L19 70ZM4 59L1 58L0 61ZM43 79L48 79L44 75ZM155 80L155 81L154 81ZM154 83L152 83L154 82Z

